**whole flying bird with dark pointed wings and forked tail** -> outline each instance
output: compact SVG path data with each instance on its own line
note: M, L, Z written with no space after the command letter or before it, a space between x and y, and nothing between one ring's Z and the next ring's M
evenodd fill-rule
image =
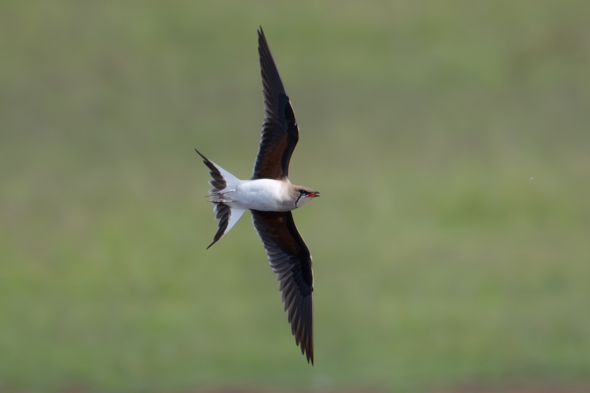
M209 247L250 210L270 266L277 275L291 333L301 354L313 365L312 256L297 231L291 210L319 197L320 193L289 181L289 161L299 140L299 128L262 27L258 30L258 55L264 122L252 178L238 179L195 149L209 168L212 177L209 184L213 188L208 197L214 205L215 219L219 220Z

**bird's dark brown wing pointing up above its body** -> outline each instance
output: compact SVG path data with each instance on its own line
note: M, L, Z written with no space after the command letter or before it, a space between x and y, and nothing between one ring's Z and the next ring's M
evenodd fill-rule
M258 55L265 117L252 179L284 179L289 173L291 154L299 140L299 129L262 27L258 31Z

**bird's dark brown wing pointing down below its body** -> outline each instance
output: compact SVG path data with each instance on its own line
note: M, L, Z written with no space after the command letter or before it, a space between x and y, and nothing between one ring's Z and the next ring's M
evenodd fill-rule
M291 212L250 211L270 266L277 273L278 290L285 311L289 311L287 321L295 342L313 365L312 256L297 232Z

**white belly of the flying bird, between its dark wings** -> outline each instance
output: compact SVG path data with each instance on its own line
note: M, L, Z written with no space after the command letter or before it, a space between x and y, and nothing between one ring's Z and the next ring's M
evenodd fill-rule
M242 209L289 212L295 209L295 203L287 199L288 184L273 179L244 180L234 192L225 194L224 197L231 199L232 204Z

